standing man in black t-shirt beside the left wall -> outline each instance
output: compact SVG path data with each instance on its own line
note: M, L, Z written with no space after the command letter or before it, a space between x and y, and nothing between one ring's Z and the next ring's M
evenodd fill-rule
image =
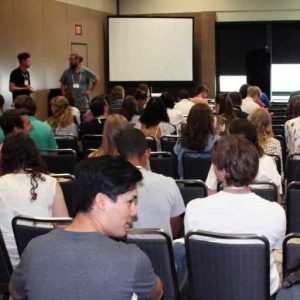
M9 90L13 94L13 101L19 95L29 96L34 92L28 72L31 66L30 54L28 52L19 53L18 60L20 65L10 73L9 78Z

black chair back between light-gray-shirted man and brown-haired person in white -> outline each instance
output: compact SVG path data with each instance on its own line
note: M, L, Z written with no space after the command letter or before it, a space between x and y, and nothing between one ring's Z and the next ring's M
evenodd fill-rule
M176 183L185 206L193 199L207 197L207 186L200 179L177 179Z

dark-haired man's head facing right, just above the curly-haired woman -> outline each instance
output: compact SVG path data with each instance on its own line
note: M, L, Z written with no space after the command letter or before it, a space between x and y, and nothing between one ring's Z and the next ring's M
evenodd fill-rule
M24 132L27 134L33 128L28 118L28 112L24 109L6 110L0 117L0 127L4 135L11 132Z

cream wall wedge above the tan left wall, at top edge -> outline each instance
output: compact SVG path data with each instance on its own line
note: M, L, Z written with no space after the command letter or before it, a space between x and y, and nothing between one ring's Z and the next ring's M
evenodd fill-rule
M116 0L56 0L67 4L77 5L85 8L95 9L106 13L117 12Z

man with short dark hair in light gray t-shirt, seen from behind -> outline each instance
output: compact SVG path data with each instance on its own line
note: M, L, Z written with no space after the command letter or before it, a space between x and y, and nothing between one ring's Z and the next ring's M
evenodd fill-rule
M143 174L143 181L138 185L138 217L133 227L162 228L171 237L176 237L185 208L175 180L147 170L150 149L145 135L138 129L123 131L116 144L119 154Z

